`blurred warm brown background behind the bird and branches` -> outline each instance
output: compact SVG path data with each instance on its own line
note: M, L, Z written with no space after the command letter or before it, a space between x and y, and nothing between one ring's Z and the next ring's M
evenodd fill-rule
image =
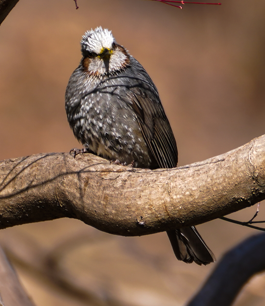
M81 59L81 36L99 25L112 30L156 84L180 166L264 134L264 1L182 10L142 0L78 5L21 0L2 23L0 160L80 147L66 120L64 93ZM255 211L233 217L247 221ZM257 232L222 220L198 229L217 259ZM72 219L2 230L0 241L38 306L183 305L214 267L178 262L165 233L116 237ZM236 305L264 305L264 289L260 274Z

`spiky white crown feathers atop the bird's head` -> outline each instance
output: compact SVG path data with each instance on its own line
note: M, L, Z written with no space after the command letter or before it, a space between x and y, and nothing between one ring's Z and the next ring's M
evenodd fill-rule
M99 54L103 47L110 49L114 42L115 38L110 30L97 27L82 36L81 50Z

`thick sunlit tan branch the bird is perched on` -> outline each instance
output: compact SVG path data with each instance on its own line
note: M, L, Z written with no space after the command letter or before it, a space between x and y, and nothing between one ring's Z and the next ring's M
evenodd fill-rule
M265 198L265 135L203 162L131 169L91 154L0 162L0 228L77 218L137 236L196 225Z

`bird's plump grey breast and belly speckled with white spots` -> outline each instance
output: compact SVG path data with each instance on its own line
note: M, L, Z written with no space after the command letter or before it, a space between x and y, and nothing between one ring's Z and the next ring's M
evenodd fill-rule
M127 164L134 160L136 166L147 167L151 160L131 106L130 88L144 84L157 92L150 88L147 73L146 79L134 70L127 67L100 79L89 76L80 65L70 77L65 108L74 135L85 148L108 159Z

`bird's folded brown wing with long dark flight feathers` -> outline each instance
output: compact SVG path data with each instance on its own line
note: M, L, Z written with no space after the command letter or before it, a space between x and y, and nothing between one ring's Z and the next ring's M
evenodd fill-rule
M176 167L176 140L157 92L135 86L130 88L129 97L144 140L159 167Z

